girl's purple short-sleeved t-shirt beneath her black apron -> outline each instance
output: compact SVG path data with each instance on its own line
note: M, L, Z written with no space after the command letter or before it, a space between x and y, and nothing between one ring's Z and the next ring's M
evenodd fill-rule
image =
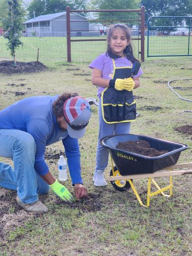
M132 67L132 62L130 60L128 60L126 57L124 58L118 58L115 59L115 67L116 68L120 68L120 67ZM104 79L112 79L113 76L113 60L112 58L110 58L109 56L106 55L106 53L101 53L96 59L94 59L90 66L91 69L95 68L98 69L100 71L102 71L101 73L101 77ZM138 77L140 75L143 74L143 71L141 69L139 69L139 72L136 76L134 77ZM97 96L100 97L100 94L102 91L104 91L105 87L98 87L98 91L97 91Z

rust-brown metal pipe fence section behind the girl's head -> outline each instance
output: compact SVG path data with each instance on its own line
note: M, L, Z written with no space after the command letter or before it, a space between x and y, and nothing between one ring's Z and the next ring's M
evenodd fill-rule
M95 15L97 18L89 18L87 22L90 24L89 27L83 19L73 19L71 14L78 14L80 12L88 13L88 16ZM77 15L76 14L76 15ZM144 61L144 6L138 10L70 10L70 7L66 7L66 20L67 20L67 51L68 61L72 60L71 53L71 42L81 42L85 44L91 41L102 41L102 38L85 38L85 39L72 39L71 36L74 33L94 33L100 35L106 35L108 28L111 24L124 23L127 27L133 28L135 26L135 33L132 36L133 40L138 41L137 43L137 57L140 55L142 61ZM78 25L77 25L78 21ZM80 25L80 24L84 25ZM75 24L75 26L73 26ZM88 24L87 24L88 25ZM133 35L132 34L132 35ZM86 47L86 45L84 45ZM135 51L136 52L136 51Z

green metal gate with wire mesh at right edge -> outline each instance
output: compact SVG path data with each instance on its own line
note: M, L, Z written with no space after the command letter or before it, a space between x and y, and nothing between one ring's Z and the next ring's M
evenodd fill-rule
M147 29L147 57L192 55L192 17L151 17Z

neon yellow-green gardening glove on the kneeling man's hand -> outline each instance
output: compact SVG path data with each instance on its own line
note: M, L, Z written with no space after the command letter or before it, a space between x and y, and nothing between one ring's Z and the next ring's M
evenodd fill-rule
M52 185L50 185L50 187L53 189L54 194L60 197L60 199L62 199L63 201L65 202L74 201L74 198L69 192L69 190L65 186L60 184L57 180Z

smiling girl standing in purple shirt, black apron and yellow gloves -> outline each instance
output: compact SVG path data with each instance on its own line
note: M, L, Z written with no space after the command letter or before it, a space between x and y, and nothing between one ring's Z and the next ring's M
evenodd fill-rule
M95 186L106 186L103 173L108 166L108 149L100 144L100 139L115 134L129 134L131 121L136 119L136 102L133 89L139 87L139 69L131 76L133 55L131 33L124 24L111 25L107 35L108 49L90 64L92 83L98 87L99 135L96 153L96 167L93 177Z

